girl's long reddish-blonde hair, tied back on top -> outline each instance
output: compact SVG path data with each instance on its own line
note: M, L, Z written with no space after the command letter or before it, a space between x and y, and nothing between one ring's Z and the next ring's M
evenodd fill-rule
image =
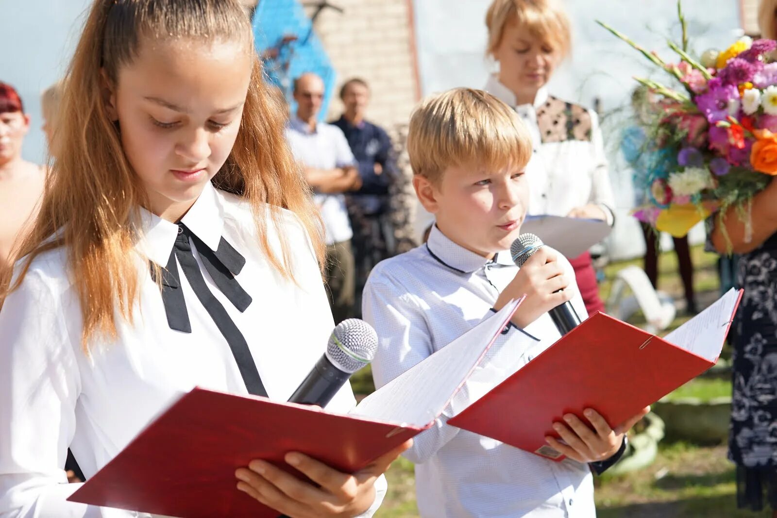
M114 309L132 320L138 297L137 262L131 250L138 229L131 224L146 202L121 147L117 126L110 120L101 95L101 75L117 79L119 68L138 55L142 38L155 40L245 40L254 56L251 82L232 152L212 182L219 189L248 200L260 236L260 248L285 278L293 280L287 242L280 231L280 210L291 210L312 238L322 263L322 224L309 196L301 168L288 148L286 116L263 81L253 50L246 12L237 0L95 0L64 78L57 139L51 150L40 215L20 245L26 256L19 287L36 256L59 246L67 250L83 318L82 346L98 333L116 335ZM279 229L280 257L267 239L270 220ZM52 235L57 238L51 240ZM159 277L158 277L159 278ZM0 303L7 290L0 291Z

